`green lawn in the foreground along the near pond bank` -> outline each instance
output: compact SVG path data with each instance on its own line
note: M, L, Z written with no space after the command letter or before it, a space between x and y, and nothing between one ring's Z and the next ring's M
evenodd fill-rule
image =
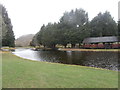
M3 88L118 88L116 71L2 55Z

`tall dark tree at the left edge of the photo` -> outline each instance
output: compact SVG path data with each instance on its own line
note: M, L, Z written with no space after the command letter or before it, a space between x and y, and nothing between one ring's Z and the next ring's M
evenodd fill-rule
M13 26L11 23L11 19L8 16L8 12L6 8L0 4L0 22L1 22L1 29L0 29L0 47L1 46L9 46L14 47L15 43L15 37L13 32Z

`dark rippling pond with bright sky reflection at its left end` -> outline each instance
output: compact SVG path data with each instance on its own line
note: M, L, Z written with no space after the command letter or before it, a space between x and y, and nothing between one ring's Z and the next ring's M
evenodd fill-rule
M33 51L30 49L16 49L13 54L37 61L75 64L117 71L118 54L120 52Z

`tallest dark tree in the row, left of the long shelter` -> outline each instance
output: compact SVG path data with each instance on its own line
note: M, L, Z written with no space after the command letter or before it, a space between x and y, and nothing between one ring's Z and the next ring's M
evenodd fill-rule
M76 43L81 43L85 37L88 37L89 29L85 29L88 26L88 13L83 9L71 10L71 12L65 12L60 19L60 23L63 26L63 32L67 33L66 43L72 44L75 47ZM86 33L85 33L86 32ZM84 37L83 37L84 33Z

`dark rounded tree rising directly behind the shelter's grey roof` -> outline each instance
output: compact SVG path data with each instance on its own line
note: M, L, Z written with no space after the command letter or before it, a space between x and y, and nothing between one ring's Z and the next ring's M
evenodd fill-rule
M91 36L116 36L118 33L117 24L109 12L99 13L91 21Z

